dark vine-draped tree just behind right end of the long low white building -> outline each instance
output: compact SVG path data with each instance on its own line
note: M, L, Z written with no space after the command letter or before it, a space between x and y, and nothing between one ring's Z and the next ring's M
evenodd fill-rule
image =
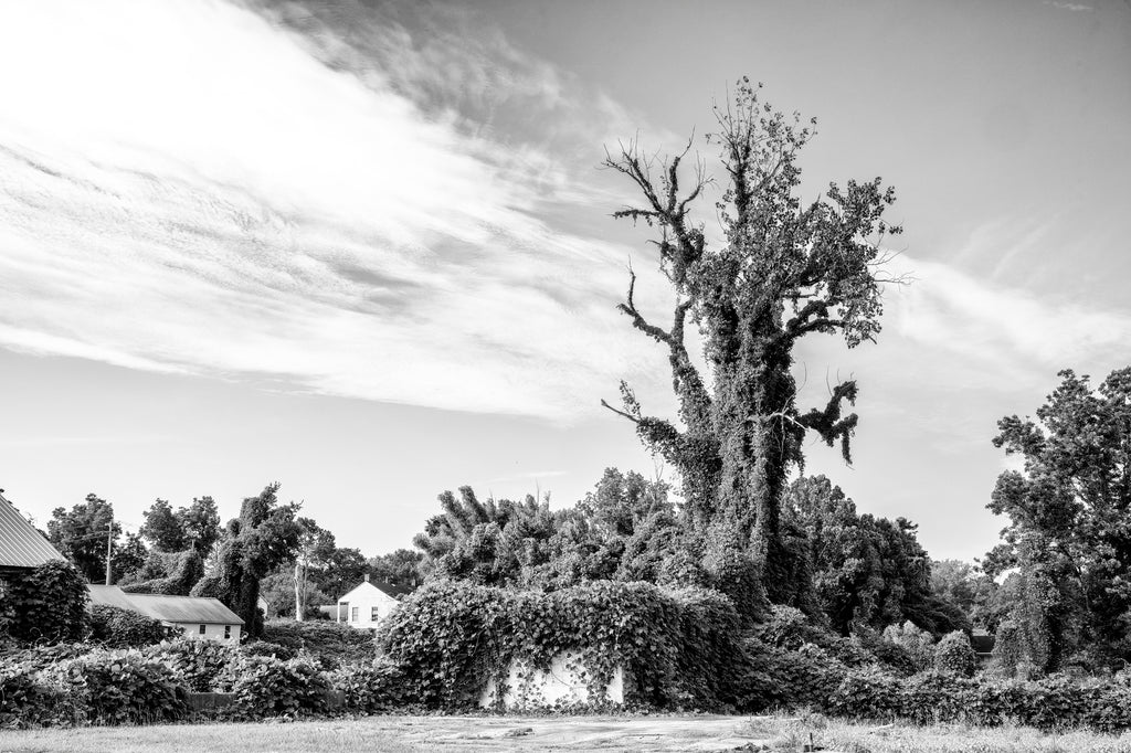
M240 517L228 521L215 572L192 588L192 596L216 597L240 615L251 639L262 634L260 579L291 562L299 545L297 505L279 504L278 490L277 483L269 484L258 496L243 500Z

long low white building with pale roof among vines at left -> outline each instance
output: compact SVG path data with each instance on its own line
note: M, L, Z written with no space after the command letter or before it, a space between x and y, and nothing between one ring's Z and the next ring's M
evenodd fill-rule
M184 638L240 642L243 620L219 599L127 594L116 586L87 586L87 589L90 591L92 605L105 604L159 620L165 625L180 630Z

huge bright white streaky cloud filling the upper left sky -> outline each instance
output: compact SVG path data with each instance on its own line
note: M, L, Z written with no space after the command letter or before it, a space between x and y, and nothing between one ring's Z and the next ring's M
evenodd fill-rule
M333 26L216 2L20 11L0 66L36 75L0 83L0 343L554 419L641 371L613 311L627 250L537 219L588 206L569 167L409 96L446 69L402 71L406 92L369 50L312 55Z

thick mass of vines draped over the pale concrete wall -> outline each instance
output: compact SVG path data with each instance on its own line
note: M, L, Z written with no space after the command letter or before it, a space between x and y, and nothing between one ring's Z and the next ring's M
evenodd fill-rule
M586 672L594 703L623 667L629 702L718 708L737 700L737 628L733 605L710 591L594 582L539 592L435 582L407 597L378 640L412 698L434 708L474 704L511 660L547 669L567 652Z

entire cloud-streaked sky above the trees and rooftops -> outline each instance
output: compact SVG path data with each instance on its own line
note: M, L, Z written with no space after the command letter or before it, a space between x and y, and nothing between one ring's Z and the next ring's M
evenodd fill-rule
M601 407L674 403L615 310L629 265L672 293L598 165L715 164L742 76L819 119L803 196L880 175L905 227L878 341L796 353L803 404L861 390L853 465L806 473L981 556L996 421L1131 362L1123 0L12 0L0 71L0 488L41 526L278 481L372 556L460 485L674 481Z

